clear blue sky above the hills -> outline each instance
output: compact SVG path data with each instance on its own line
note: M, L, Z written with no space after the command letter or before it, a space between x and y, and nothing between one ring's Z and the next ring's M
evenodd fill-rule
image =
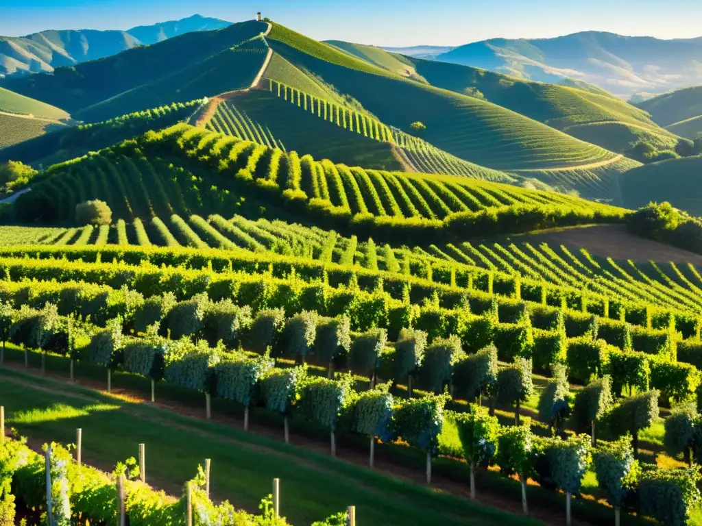
M584 30L702 36L702 0L0 0L0 34L128 29L194 13L237 22L262 11L312 38L379 46L458 45Z

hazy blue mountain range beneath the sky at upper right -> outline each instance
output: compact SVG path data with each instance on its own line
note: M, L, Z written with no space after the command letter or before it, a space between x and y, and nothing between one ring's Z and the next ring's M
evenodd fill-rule
M553 39L479 41L435 58L534 81L584 81L621 97L702 83L702 38L581 32Z

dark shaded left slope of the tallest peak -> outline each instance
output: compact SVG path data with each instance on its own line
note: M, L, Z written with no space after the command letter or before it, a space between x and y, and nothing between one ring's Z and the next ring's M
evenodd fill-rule
M54 104L81 120L102 121L244 87L246 79L251 83L256 76L256 72L251 74L255 65L260 69L265 57L265 53L249 53L260 51L262 44L246 46L246 42L266 29L263 22L249 21L217 31L188 33L59 68L53 74L7 79L4 86ZM175 62L174 57L178 58ZM84 114L78 116L81 110Z

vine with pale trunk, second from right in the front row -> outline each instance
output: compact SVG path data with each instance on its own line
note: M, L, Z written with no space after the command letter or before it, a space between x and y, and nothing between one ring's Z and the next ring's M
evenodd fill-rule
M619 526L619 508L627 494L635 487L639 464L634 459L629 436L616 442L603 442L592 452L597 485L607 493L609 504L614 507L614 524Z

